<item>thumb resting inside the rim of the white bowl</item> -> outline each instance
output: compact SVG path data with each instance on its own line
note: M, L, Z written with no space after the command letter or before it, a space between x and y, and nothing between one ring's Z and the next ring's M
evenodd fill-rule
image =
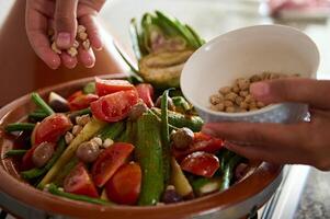
M251 94L266 104L280 102L307 103L330 110L330 81L303 78L278 79L252 83Z

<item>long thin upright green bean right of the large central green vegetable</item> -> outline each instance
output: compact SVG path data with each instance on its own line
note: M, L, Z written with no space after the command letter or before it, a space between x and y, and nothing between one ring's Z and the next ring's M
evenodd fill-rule
M169 108L169 90L166 90L161 96L161 140L162 140L162 165L163 165L163 180L167 185L170 180L170 134L169 134L169 118L168 118L168 108Z

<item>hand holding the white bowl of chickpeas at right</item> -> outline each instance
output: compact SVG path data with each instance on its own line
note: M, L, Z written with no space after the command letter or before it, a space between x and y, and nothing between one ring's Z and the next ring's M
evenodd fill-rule
M330 170L330 81L282 79L257 82L250 92L268 104L307 103L311 120L297 124L206 124L202 131L226 139L229 150L250 159Z

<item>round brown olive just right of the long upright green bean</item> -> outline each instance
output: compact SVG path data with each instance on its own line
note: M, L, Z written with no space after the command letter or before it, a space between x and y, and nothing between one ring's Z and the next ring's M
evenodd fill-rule
M177 149L184 150L193 142L194 132L191 129L183 127L173 132L171 139Z

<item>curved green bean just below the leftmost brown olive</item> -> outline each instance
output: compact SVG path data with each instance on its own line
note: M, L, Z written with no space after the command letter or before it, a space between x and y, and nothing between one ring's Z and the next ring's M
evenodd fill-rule
M52 157L52 159L47 162L47 164L45 166L34 168L29 171L23 171L23 172L21 172L21 175L26 180L36 178L41 175L44 175L45 173L47 173L48 170L50 170L50 168L54 165L54 163L57 161L57 159L60 157L60 154L62 153L62 151L65 149L66 149L66 141L64 138L60 138L54 155Z

